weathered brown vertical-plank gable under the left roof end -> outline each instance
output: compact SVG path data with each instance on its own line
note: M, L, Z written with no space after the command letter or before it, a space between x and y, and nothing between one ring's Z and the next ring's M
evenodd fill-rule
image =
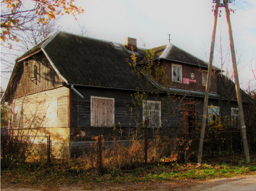
M28 67L24 64L24 62L28 62L29 60L36 61L35 65L37 67L37 73L35 75L37 78L34 80L29 78ZM63 80L54 71L43 52L39 52L33 57L21 61L18 64L19 69L15 76L15 83L12 87L12 92L15 92L15 97L63 86Z

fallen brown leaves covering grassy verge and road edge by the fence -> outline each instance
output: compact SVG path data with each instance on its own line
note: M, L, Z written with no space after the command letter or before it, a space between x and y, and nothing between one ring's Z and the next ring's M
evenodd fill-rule
M229 162L227 162L229 158ZM30 167L1 170L1 188L8 185L58 191L63 187L79 187L84 190L136 191L164 188L187 188L199 181L256 174L256 153L251 162L241 156L231 155L196 163L171 163L141 166L131 170L102 173L95 171L69 171L68 164L55 164L50 168ZM125 185L125 186L124 186Z

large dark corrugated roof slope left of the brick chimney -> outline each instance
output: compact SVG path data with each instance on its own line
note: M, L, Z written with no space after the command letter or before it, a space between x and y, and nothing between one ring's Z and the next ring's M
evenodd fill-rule
M115 48L109 41L58 32L44 50L68 84L136 89L139 80L126 61L131 53L119 45ZM137 60L142 55L143 49L138 49Z

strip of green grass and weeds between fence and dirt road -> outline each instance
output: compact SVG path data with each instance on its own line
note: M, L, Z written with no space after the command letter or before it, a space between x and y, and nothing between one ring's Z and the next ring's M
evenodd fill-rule
M251 153L251 162L243 162L242 154L230 154L223 157L203 161L201 166L196 163L171 163L140 166L133 169L98 173L97 171L83 171L78 166L72 168L69 164L55 163L50 168L43 165L37 168L17 168L16 170L1 170L2 184L22 185L50 185L58 187L65 185L84 185L89 183L127 183L143 181L168 181L178 179L207 180L214 178L229 178L233 176L256 174L256 153ZM226 159L233 160L238 165L226 163ZM70 171L75 169L75 171ZM65 182L65 184L63 184Z

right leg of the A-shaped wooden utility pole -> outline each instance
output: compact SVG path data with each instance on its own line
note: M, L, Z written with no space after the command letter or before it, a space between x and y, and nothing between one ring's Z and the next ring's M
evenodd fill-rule
M235 84L236 84L237 103L238 103L238 110L239 110L239 122L240 122L240 127L242 132L244 156L245 156L246 162L250 162L250 155L249 155L248 142L247 142L247 136L246 136L245 122L244 122L242 97L241 97L239 79L238 79L236 53L234 50L233 35L232 35L232 29L231 29L231 23L230 23L230 17L229 17L230 12L228 9L228 0L224 0L224 4L225 4L226 17L227 17L227 23L228 23L229 41L230 41L231 56L232 56L232 62L233 62L234 78L235 78Z

